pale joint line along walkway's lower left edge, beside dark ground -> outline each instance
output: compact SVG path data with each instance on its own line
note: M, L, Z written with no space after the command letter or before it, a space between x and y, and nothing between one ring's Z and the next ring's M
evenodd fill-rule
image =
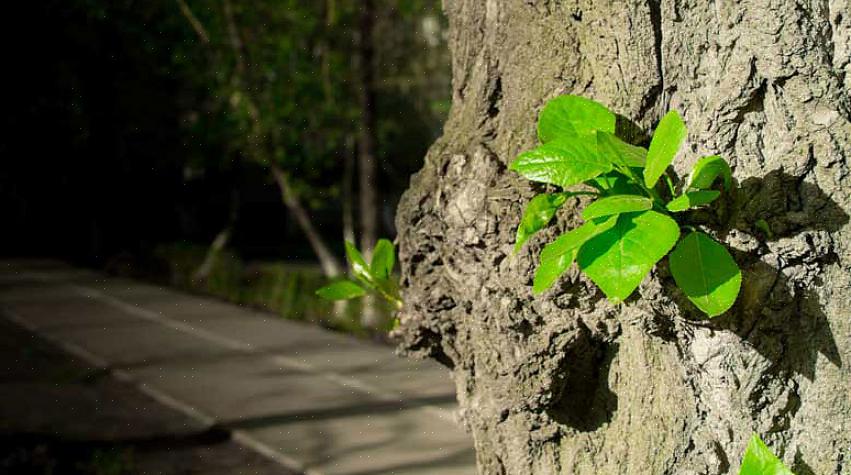
M27 319L21 317L20 315L9 310L8 308L0 307L0 314L2 314L7 320L11 321L12 323L34 334L39 335L40 338L43 338L50 344L62 349L66 353L70 353L71 355L81 359L82 361L85 361L87 364L94 366L96 369L106 370L117 381L134 386L140 392L144 393L157 403L171 408L177 412L180 412L181 414L189 417L190 419L194 419L196 422L199 422L201 425L212 426L217 423L214 417L204 413L200 409L197 409L181 402L178 399L175 399L169 394L160 391L159 389L156 389L153 386L150 386L140 381L127 371L124 371L122 369L110 368L109 363L106 360L77 345L76 343L62 341L57 337L40 333L36 325L31 324L29 321L27 321ZM266 457L284 467L287 467L291 470L297 470L299 472L302 472L304 475L324 475L323 472L320 472L318 470L308 469L304 466L303 463L255 439L242 429L230 429L226 426L225 428L230 431L231 439L237 444L247 447L248 449L257 452L261 456Z

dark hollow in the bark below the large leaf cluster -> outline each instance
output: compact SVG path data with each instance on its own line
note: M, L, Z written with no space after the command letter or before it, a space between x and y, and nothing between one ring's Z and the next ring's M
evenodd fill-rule
M547 410L556 422L591 432L611 422L618 397L609 388L609 368L618 346L590 335L566 355L559 398Z

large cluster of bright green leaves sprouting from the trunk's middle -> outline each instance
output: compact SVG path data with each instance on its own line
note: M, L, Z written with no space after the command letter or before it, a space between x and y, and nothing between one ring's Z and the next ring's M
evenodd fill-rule
M618 303L670 252L671 274L685 295L710 317L727 311L741 286L739 267L724 246L703 232L687 227L688 234L680 239L675 217L716 200L721 192L713 187L719 179L729 191L730 166L719 156L701 158L678 191L667 169L687 135L679 114L665 115L649 149L618 138L615 121L597 102L557 97L539 117L542 145L511 164L529 180L561 188L529 202L517 229L515 252L547 226L569 198L596 199L582 211L583 225L544 247L533 291L551 287L576 261L606 297ZM567 191L578 185L586 188Z

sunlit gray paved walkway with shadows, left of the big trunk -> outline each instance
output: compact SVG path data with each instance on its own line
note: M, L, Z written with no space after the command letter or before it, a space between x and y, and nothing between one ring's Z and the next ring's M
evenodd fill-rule
M51 262L0 261L0 316L308 474L472 474L447 371L381 345Z

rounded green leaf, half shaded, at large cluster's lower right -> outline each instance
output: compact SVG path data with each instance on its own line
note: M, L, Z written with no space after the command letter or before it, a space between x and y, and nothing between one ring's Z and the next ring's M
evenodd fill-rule
M720 315L735 303L742 271L727 248L706 234L692 232L684 237L668 263L677 285L708 316Z

